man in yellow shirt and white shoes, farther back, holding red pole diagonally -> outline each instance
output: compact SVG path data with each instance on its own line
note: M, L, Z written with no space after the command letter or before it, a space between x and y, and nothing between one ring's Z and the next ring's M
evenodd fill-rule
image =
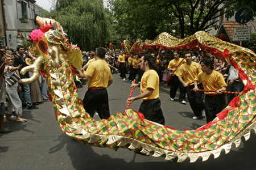
M171 80L171 88L170 88L170 97L171 97L171 101L174 101L174 97L176 95L177 92L177 88L180 88L180 96L179 96L179 102L182 104L187 103L185 101L185 96L186 96L186 91L185 88L183 86L183 84L181 84L181 82L179 81L178 77L177 77L177 69L179 69L179 67L185 63L185 59L180 58L180 53L178 53L177 50L175 50L174 52L174 59L172 59L172 61L170 61L167 70L174 72L174 75L172 76L172 80ZM180 66L179 66L180 63ZM179 66L179 67L177 67Z

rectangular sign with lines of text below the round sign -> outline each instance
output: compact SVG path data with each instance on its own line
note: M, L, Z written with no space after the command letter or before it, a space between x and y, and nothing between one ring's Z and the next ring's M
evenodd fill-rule
M237 27L233 31L233 41L246 41L251 39L251 27Z

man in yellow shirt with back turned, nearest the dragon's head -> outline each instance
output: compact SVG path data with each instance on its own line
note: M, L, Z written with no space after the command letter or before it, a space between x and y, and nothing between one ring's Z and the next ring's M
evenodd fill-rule
M89 80L88 91L86 91L84 100L85 111L94 116L97 111L101 119L108 119L109 99L108 88L113 83L112 74L108 64L104 61L106 50L102 47L97 48L95 61L90 63L84 74L80 69L76 69L76 73L83 80Z

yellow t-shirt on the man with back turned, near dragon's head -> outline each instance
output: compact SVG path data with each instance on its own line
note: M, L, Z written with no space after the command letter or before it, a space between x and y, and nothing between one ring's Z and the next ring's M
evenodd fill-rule
M113 79L108 63L103 59L97 59L97 61L90 63L84 74L90 76L88 89L107 88L109 80Z

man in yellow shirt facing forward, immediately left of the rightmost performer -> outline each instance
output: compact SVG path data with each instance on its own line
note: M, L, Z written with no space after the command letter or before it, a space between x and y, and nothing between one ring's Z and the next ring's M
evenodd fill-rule
M190 52L185 52L184 58L186 62L180 66L180 69L177 70L177 76L187 92L190 107L195 114L193 119L197 119L201 116L205 116L204 93L199 91L191 91L191 89L194 88L194 85L188 85L188 83L193 82L197 74L199 74L202 70L199 63L191 60L192 57Z

